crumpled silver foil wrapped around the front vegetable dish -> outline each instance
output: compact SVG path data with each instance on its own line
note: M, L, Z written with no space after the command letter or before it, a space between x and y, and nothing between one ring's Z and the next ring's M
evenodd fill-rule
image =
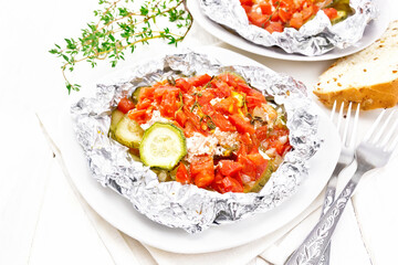
M179 182L159 182L157 174L133 161L127 148L107 134L111 113L118 100L140 86L151 86L168 76L216 75L232 71L264 95L274 96L287 114L293 146L284 162L259 193L218 193ZM223 66L217 60L191 51L148 61L124 73L125 78L97 85L96 95L71 107L76 138L88 160L92 176L127 198L147 218L171 227L197 233L212 224L234 222L269 211L291 197L307 177L307 160L316 152L317 115L302 83L266 67ZM289 96L286 96L289 95ZM133 224L132 224L133 225Z

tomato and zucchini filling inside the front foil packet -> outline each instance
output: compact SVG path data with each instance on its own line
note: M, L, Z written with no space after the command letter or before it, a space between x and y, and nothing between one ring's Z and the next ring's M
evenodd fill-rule
M228 72L137 88L109 134L159 181L221 193L260 191L292 148L283 107Z

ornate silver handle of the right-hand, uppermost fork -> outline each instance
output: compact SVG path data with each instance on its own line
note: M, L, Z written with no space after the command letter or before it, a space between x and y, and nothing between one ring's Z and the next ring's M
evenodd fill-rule
M311 231L304 242L290 256L285 265L317 265L322 254L331 242L337 222L347 205L360 177L371 168L358 165L353 178L348 181L342 193L334 201L331 209L320 219L320 222Z

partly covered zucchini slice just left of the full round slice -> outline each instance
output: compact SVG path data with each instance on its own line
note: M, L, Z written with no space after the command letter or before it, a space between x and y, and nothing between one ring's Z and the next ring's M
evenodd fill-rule
M125 115L117 124L114 138L129 148L138 148L143 139L144 130L139 124Z

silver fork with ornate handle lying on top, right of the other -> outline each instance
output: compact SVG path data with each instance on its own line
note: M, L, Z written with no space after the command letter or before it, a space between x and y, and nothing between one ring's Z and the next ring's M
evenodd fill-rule
M392 151L398 146L398 137L396 129L398 127L398 118L395 118L392 126L385 132L387 126L390 124L395 112L386 119L385 124L375 132L377 126L380 124L386 110L376 119L368 134L365 136L363 142L355 150L355 158L357 160L357 169L348 181L336 201L331 205L331 209L323 215L320 222L311 231L307 237L296 252L287 259L286 265L313 264L317 265L321 261L322 254L325 252L331 242L332 234L337 225L342 213L347 205L355 188L357 187L360 177L375 168L384 167ZM384 137L383 137L384 136ZM383 140L380 138L383 137Z

